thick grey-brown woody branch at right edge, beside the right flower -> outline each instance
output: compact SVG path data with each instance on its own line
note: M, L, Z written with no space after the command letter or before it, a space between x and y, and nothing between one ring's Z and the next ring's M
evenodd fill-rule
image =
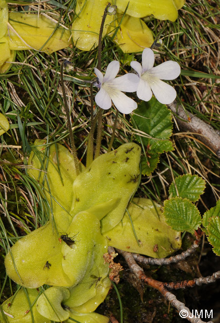
M179 127L194 133L220 159L220 136L215 129L192 113L187 111L186 114L181 106L177 106L176 101L168 104L168 107L181 118L176 119Z

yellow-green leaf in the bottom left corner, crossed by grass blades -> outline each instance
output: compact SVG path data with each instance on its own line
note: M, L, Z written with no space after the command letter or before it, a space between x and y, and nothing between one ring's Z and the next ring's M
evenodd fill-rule
M39 292L36 289L26 289L26 292L21 288L15 296L7 299L2 305L2 310L6 313L4 320L0 312L1 323L33 323L32 313L34 322L36 323L51 323L51 320L46 319L37 311L36 299L39 296ZM29 303L30 302L30 303ZM30 309L30 304L33 304ZM32 313L31 313L32 311Z

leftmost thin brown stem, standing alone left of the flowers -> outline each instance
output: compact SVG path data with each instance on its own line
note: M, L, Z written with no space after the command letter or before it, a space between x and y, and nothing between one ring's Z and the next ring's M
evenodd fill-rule
M69 108L67 104L67 99L66 99L66 92L64 88L64 82L63 82L63 65L64 62L62 62L61 67L60 67L60 81L61 81L61 87L62 87L62 94L63 94L63 102L64 102L64 109L66 113L66 118L67 118L67 126L69 130L69 139L70 139L70 147L74 159L74 164L75 164L75 169L76 169L76 175L79 175L79 163L78 163L78 158L77 158L77 153L76 153L76 146L75 146L75 141L73 138L73 132L72 132L72 127L71 127L71 122L70 122L70 115L69 115Z

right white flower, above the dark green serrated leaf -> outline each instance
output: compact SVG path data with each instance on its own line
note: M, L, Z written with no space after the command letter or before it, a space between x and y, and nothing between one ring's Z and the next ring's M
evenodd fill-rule
M137 96L139 99L149 101L152 91L159 102L163 104L171 103L176 97L175 89L161 80L174 80L180 74L180 66L177 62L167 61L156 67L154 66L154 52L150 48L145 48L142 53L142 66L133 61L131 67L139 75Z

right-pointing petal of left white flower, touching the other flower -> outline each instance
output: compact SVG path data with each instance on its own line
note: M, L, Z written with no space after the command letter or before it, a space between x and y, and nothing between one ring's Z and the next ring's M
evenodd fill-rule
M139 77L133 73L128 73L111 81L113 85L123 92L135 92L139 83Z

